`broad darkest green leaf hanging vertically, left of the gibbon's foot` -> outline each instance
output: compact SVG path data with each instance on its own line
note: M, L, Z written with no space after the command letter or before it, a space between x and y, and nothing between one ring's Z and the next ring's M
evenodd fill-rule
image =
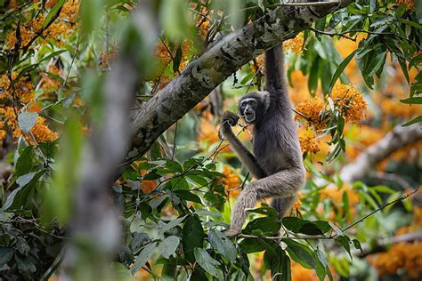
M186 219L182 235L184 256L186 257L186 260L194 262L195 256L193 249L202 248L205 237L204 229L202 229L202 224L198 215L191 215Z

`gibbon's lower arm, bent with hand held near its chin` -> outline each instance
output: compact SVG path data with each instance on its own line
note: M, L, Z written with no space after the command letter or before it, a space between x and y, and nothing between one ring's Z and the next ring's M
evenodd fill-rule
M239 139L234 135L234 133L231 131L230 124L223 124L222 132L224 138L229 141L229 144L231 146L231 149L234 150L236 155L239 157L240 162L245 165L250 173L256 179L262 179L266 175L261 169L261 167L256 162L256 158L248 151L245 146L239 141Z

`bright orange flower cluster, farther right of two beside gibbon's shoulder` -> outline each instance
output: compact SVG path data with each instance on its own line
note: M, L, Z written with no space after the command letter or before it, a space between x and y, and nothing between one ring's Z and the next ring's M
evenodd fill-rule
M330 94L345 120L359 124L366 116L367 103L353 85L336 84Z

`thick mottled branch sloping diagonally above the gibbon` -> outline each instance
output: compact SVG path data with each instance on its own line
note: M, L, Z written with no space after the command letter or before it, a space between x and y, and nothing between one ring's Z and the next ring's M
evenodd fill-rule
M279 7L208 48L133 114L131 155L143 155L158 136L203 100L218 84L261 52L309 28L329 12L351 4Z

